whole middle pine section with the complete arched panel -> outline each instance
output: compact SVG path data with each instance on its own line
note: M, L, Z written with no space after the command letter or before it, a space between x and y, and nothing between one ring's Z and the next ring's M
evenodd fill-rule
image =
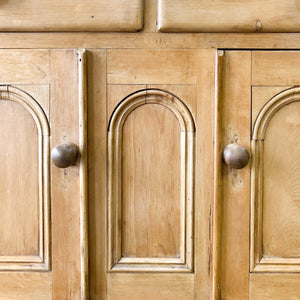
M88 62L91 299L209 299L215 50Z

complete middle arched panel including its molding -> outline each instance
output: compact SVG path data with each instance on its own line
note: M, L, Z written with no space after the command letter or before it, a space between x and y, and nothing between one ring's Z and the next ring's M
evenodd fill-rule
M145 89L114 110L108 132L108 266L190 272L194 122L175 96Z

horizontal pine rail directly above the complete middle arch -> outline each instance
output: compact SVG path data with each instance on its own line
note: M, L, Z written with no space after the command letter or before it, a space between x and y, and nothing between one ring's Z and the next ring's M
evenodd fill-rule
M109 50L109 84L195 84L193 50Z

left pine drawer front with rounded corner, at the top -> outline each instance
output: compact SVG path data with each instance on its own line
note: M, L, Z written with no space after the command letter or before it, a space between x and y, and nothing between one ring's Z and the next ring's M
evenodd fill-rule
M1 31L138 31L143 27L141 0L76 2L5 1Z

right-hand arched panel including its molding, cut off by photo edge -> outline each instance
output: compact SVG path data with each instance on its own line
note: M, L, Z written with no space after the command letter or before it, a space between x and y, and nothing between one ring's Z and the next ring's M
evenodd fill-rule
M265 93L256 93L256 104L263 103L257 101L259 95ZM299 128L298 87L265 99L251 147L251 269L255 272L300 270Z

